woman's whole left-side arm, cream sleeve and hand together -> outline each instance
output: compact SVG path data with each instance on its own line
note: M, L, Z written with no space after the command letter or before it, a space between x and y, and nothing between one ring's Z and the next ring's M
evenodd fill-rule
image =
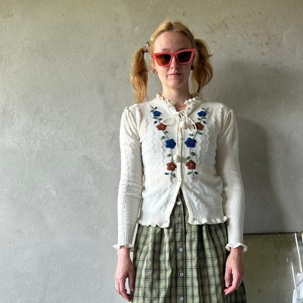
M115 274L116 291L127 301L131 300L126 290L126 280L131 291L134 287L133 234L142 196L141 144L136 119L129 109L125 109L120 127L121 178L118 192L118 243L117 268Z

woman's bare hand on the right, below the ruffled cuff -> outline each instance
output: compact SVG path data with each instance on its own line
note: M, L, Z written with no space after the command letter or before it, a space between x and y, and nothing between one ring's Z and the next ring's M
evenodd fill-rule
M230 254L226 260L225 269L225 288L224 293L227 295L239 288L244 277L244 266L242 261L242 246L230 248ZM231 280L232 276L232 280ZM232 283L231 283L232 281Z

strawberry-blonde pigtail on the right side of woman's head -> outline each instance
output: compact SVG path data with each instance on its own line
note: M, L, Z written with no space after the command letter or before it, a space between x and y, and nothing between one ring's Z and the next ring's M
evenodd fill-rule
M203 86L207 85L213 78L213 67L208 45L200 39L195 39L194 70L192 71L192 85L196 93L200 93Z

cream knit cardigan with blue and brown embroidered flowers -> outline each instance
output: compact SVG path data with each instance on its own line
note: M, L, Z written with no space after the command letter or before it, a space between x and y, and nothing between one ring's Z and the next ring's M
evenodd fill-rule
M118 243L133 250L136 223L168 227L182 189L190 224L227 221L230 247L243 244L244 191L234 112L200 95L177 112L157 95L123 112Z

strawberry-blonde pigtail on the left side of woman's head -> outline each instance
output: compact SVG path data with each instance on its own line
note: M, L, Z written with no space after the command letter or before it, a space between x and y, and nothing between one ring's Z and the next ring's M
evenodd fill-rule
M136 103L142 103L146 96L148 68L144 60L144 47L137 49L132 58L130 83L134 90Z

